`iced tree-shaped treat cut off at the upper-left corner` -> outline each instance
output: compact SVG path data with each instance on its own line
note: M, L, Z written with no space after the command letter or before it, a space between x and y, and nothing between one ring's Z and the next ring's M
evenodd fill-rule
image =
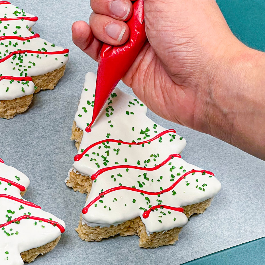
M68 49L31 31L38 17L0 1L0 117L28 109L33 94L53 89L64 75Z

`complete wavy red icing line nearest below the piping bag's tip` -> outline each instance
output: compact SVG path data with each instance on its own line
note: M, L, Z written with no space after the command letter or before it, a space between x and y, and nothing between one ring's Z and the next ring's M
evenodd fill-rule
M152 142L154 140L156 140L157 138L160 138L161 136L163 136L164 134L166 133L170 133L170 132L174 132L176 133L176 131L174 129L169 129L169 130L166 130L166 131L163 131L163 132L160 132L159 134L157 134L156 136L154 136L153 138L151 139L148 139L146 141L143 141L143 142L123 142L121 140L115 140L115 139L105 139L105 140L101 140L99 142L96 142L94 144L91 144L90 146L88 146L87 148L85 148L85 150L81 153L81 154L77 154L75 157L74 157L74 161L79 161L83 156L84 154L86 154L92 147L98 145L98 144L102 144L103 142L116 142L116 143L122 143L122 144L131 144L131 145L141 145L141 144L147 144L148 142Z

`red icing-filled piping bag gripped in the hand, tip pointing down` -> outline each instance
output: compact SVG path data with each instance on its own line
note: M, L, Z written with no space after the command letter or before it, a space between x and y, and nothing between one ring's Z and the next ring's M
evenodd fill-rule
M129 40L120 46L103 44L97 69L97 83L92 121L85 129L91 131L95 119L103 108L111 92L131 67L147 37L144 23L144 1L133 4L133 15L127 22L130 28Z

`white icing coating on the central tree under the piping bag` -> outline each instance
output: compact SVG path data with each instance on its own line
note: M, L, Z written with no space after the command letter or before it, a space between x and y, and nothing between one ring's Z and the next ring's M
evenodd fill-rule
M171 154L182 152L186 146L186 141L172 132L166 133L162 138L157 138L150 144L144 144L144 146L140 144L131 145L130 147L127 144L118 144L111 141L107 143L107 140L110 139L142 142L166 131L165 128L154 124L152 120L146 117L147 108L140 100L118 88L115 88L112 96L103 107L99 117L91 127L92 131L85 132L87 123L92 118L95 82L96 76L93 73L87 73L75 116L77 126L84 132L78 153L80 154L95 142L104 139L106 141L104 144L98 144L88 150L86 152L87 156L84 154L83 158L75 161L72 170L91 176L99 169L117 165L152 168L162 163ZM135 187L142 191L159 192L168 189L185 172L193 169L200 170L200 168L188 164L178 157L174 157L164 166L153 171L128 169L126 166L111 169L103 172L93 181L85 205L93 201L99 193L113 187ZM220 189L221 184L214 176L198 172L187 175L185 179L160 196L120 189L107 193L103 198L95 201L88 208L87 213L82 215L82 221L92 227L109 227L140 216L148 234L167 231L174 227L186 225L188 221L186 215L182 212L164 208L151 211L148 218L143 218L144 211L151 206L160 204L183 207L199 203L213 198Z

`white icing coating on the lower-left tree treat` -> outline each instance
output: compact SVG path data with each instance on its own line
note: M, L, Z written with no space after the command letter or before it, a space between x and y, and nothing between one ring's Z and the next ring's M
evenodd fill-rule
M0 172L1 178L16 182L25 188L29 185L28 177L12 166L0 163ZM22 199L18 187L13 185L9 186L8 183L3 180L0 180L0 183L0 194L7 194ZM26 200L23 199L23 201ZM21 206L23 206L23 208L21 208ZM14 220L26 214L45 219L51 218L53 221L65 227L64 221L42 209L4 197L0 197L0 212L0 224L5 224L9 219ZM21 252L43 246L61 235L58 227L34 219L23 219L19 224L11 223L5 226L4 229L1 228L0 232L1 265L23 265L24 262L20 256Z

